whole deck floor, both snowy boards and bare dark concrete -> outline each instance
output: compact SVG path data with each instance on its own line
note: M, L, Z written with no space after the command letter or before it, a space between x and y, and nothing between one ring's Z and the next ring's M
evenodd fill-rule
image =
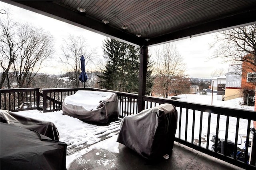
M242 170L212 156L174 142L172 155L158 162L148 162L128 147L116 142L120 120L107 126L84 123L63 115L62 111L39 110L16 112L23 116L53 122L66 142L68 170Z

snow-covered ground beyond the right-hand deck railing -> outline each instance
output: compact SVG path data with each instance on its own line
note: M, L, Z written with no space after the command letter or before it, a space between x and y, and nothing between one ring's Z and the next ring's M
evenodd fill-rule
M243 99L242 98L235 98L232 100L221 101L217 100L218 96L213 93L208 93L208 95L202 94L181 94L176 97L180 97L179 101L186 101L186 102L193 102L199 104L208 104L214 106L222 106L227 108L239 108L245 110L254 110L254 106L244 106L242 105ZM177 108L179 113L179 108ZM192 138L192 114L193 110L188 111L188 134L187 134L187 141L191 142ZM186 124L186 110L182 110L182 122L181 122L181 139L185 139L185 124ZM244 148L244 141L246 141L246 133L247 133L247 124L248 120L240 119L239 122L239 129L238 134L241 136L242 144L238 145L241 149ZM253 121L250 122L251 126L253 127ZM210 139L212 139L212 135L216 134L216 125L217 125L217 114L211 115L211 123L210 123ZM196 111L196 118L195 118L195 129L194 129L194 139L199 138L199 129L200 129L200 112ZM206 139L207 137L207 130L208 130L208 113L203 113L202 119L202 138ZM177 129L178 131L178 129ZM219 124L219 131L226 131L226 116L220 115L220 124ZM229 128L228 128L228 139L234 141L231 137L233 133L236 132L236 118L230 117L229 120ZM178 133L176 133L176 137L178 137ZM224 138L225 136L223 136ZM219 138L222 138L221 134ZM250 134L250 140L252 138L252 134ZM239 140L239 138L238 138ZM212 146L212 142L209 143L209 148ZM202 147L206 148L206 141L202 140Z

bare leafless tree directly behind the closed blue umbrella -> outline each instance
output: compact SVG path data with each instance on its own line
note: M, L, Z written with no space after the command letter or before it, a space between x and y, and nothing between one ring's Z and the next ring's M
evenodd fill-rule
M75 87L79 87L78 77L80 75L80 58L83 55L85 59L85 65L88 63L93 63L94 55L96 54L95 49L88 50L86 48L86 39L83 36L72 36L70 35L68 39L63 40L64 44L61 47L61 50L64 54L64 57L60 60L65 63L72 73L72 80L75 82Z

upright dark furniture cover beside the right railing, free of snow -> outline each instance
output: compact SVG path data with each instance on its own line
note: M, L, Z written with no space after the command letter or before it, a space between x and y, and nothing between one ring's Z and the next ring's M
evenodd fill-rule
M161 104L126 116L121 122L117 142L150 160L170 154L177 129L177 114L172 104Z

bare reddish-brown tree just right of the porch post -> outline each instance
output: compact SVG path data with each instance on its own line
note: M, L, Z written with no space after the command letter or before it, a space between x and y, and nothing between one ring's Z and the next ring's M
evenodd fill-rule
M171 43L158 48L155 57L156 79L154 86L162 91L163 96L167 98L173 78L185 76L186 64L183 62L176 46Z

